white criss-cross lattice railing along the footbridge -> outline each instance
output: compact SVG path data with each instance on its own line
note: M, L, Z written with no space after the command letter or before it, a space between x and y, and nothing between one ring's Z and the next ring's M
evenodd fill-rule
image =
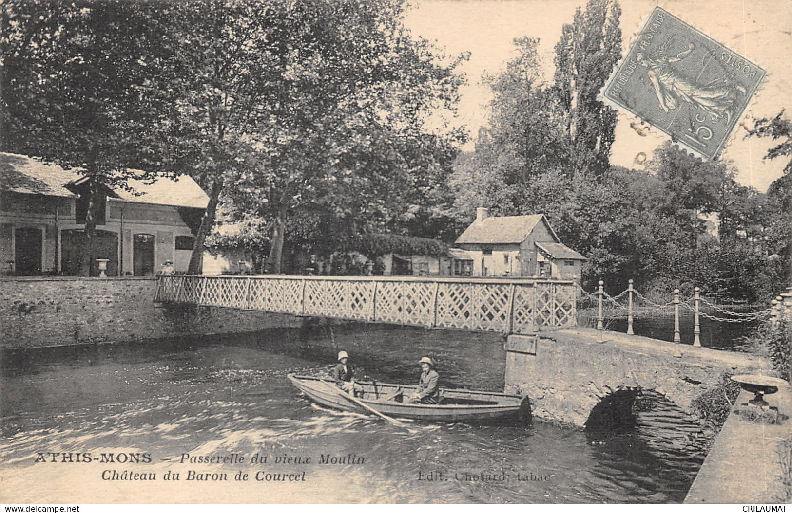
M162 276L156 300L432 328L531 334L576 325L572 281Z

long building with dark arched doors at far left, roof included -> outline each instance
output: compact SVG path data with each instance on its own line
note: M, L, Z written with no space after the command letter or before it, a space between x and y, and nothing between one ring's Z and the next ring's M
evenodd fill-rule
M5 275L77 275L85 239L86 178L54 164L0 153L0 264ZM105 189L95 258L107 276L151 276L166 260L187 270L208 196L188 176L131 179ZM92 262L91 275L98 274Z

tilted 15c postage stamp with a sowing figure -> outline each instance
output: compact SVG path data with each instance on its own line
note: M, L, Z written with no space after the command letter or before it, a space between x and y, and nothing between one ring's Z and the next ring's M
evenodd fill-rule
M722 152L766 75L754 62L657 7L601 99L711 160Z

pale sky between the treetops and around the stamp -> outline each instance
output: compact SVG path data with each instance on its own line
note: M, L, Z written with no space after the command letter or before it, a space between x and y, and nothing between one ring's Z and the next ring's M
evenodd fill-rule
M406 25L413 33L444 48L449 55L470 51L470 60L460 70L468 80L461 90L459 118L470 130L471 142L485 125L489 89L482 74L494 74L513 57L512 40L539 38L545 62L545 78L552 79L554 46L562 25L571 23L575 9L587 0L413 0ZM752 119L774 117L789 108L792 117L792 0L621 0L623 50L633 40L646 17L656 6L699 28L714 40L756 62L768 72L767 81L748 111L735 127L723 158L733 160L737 180L760 191L782 175L786 160L763 160L773 141L744 138L744 126ZM642 168L640 153L651 158L657 146L668 139L659 130L639 135L630 123L635 119L619 111L611 163Z

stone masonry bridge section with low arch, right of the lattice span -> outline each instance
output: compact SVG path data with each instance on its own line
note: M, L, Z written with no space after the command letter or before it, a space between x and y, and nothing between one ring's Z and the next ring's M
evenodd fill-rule
M684 413L724 375L769 369L756 356L579 328L506 341L508 393L527 395L535 417L583 428L592 409L618 390L653 390Z

